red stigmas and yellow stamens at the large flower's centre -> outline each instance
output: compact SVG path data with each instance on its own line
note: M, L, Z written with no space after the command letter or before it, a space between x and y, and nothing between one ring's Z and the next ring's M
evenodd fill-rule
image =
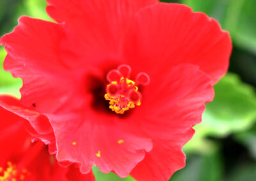
M130 108L141 105L141 93L138 85L148 85L150 78L147 73L139 73L136 80L129 79L131 67L127 65L118 66L117 69L109 71L105 99L109 101L109 108L118 114L123 114Z

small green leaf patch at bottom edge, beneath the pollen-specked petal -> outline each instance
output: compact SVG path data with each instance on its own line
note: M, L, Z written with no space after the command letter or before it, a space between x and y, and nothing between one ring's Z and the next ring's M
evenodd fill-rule
M102 173L97 166L93 166L92 168L93 174L95 176L96 180L111 180L111 181L134 181L134 179L131 176L128 176L126 178L120 178L115 173Z

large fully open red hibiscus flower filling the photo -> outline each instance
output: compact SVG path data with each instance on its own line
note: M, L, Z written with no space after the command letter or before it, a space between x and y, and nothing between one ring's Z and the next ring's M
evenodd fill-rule
M228 33L182 4L48 3L57 23L21 17L0 40L4 68L23 80L20 105L2 106L28 119L62 164L168 180L227 71Z

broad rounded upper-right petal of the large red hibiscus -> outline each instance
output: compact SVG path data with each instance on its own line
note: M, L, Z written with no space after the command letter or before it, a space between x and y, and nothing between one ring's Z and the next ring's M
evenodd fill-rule
M159 3L141 10L127 31L124 54L132 70L150 77L166 66L195 64L217 82L227 72L231 40L204 13L182 4ZM147 62L147 63L145 63Z

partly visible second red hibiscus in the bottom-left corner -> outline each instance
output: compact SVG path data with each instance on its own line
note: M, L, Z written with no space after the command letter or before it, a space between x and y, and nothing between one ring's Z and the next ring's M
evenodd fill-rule
M17 99L1 96L9 103ZM61 168L42 141L31 143L25 120L0 107L0 180L95 180L92 173L83 175L74 166Z

